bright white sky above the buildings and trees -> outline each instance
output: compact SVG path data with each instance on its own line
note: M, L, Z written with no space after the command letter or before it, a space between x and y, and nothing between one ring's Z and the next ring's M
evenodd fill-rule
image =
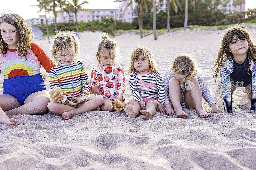
M79 2L82 2L80 0ZM114 2L114 0L86 0L89 4L85 4L83 7L88 9L116 9L118 7L118 3ZM8 2L8 3L7 3ZM26 3L24 3L26 2ZM16 14L19 14L24 19L30 18L38 18L38 15L44 15L44 12L37 13L39 8L37 6L36 0L8 0L4 1L0 5L0 15L5 10L10 10ZM256 8L256 0L245 0L245 9L248 8Z

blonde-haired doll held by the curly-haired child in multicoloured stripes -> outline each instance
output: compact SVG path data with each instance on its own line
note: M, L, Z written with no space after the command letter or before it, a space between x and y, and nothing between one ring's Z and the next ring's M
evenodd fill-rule
M69 97L72 97L72 102L69 102L69 104L71 104L71 105L77 105L77 104L82 102L81 98L77 98L77 97L74 97L74 96L71 96L71 95L67 94L65 91L62 91L60 87L52 88L52 90L49 93L50 93L50 98L54 102L58 102L58 103L68 105L69 101L68 101L68 97L66 95L68 95ZM59 97L63 98L63 100L58 100Z

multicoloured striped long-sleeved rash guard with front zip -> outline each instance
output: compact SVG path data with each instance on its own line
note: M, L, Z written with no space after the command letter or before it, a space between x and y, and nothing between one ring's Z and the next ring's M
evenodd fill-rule
M89 79L81 61L69 66L59 62L57 66L50 70L49 83L51 89L60 87L63 91L75 97L82 95L88 97L90 92ZM71 101L71 98L68 96L68 100Z

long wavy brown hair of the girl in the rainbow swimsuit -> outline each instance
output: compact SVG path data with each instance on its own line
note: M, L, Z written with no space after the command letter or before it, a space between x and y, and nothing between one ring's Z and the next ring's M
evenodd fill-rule
M20 15L7 13L0 17L0 27L2 23L11 24L17 29L17 53L20 58L26 58L29 54L28 48L32 44L32 32L29 29L25 20ZM0 53L2 56L7 54L8 44L4 42L2 35L0 34Z

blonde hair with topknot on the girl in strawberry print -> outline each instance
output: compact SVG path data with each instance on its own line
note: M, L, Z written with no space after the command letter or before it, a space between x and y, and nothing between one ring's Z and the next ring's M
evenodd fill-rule
M97 51L97 54L96 54L96 58L97 58L97 61L98 61L98 66L102 66L100 55L101 55L101 53L103 52L104 49L108 50L109 56L111 56L112 58L115 58L115 60L118 59L119 50L118 50L118 47L117 47L117 43L114 39L109 37L108 33L105 33L105 32L101 36L101 40L100 40L100 43L98 45L98 51Z

